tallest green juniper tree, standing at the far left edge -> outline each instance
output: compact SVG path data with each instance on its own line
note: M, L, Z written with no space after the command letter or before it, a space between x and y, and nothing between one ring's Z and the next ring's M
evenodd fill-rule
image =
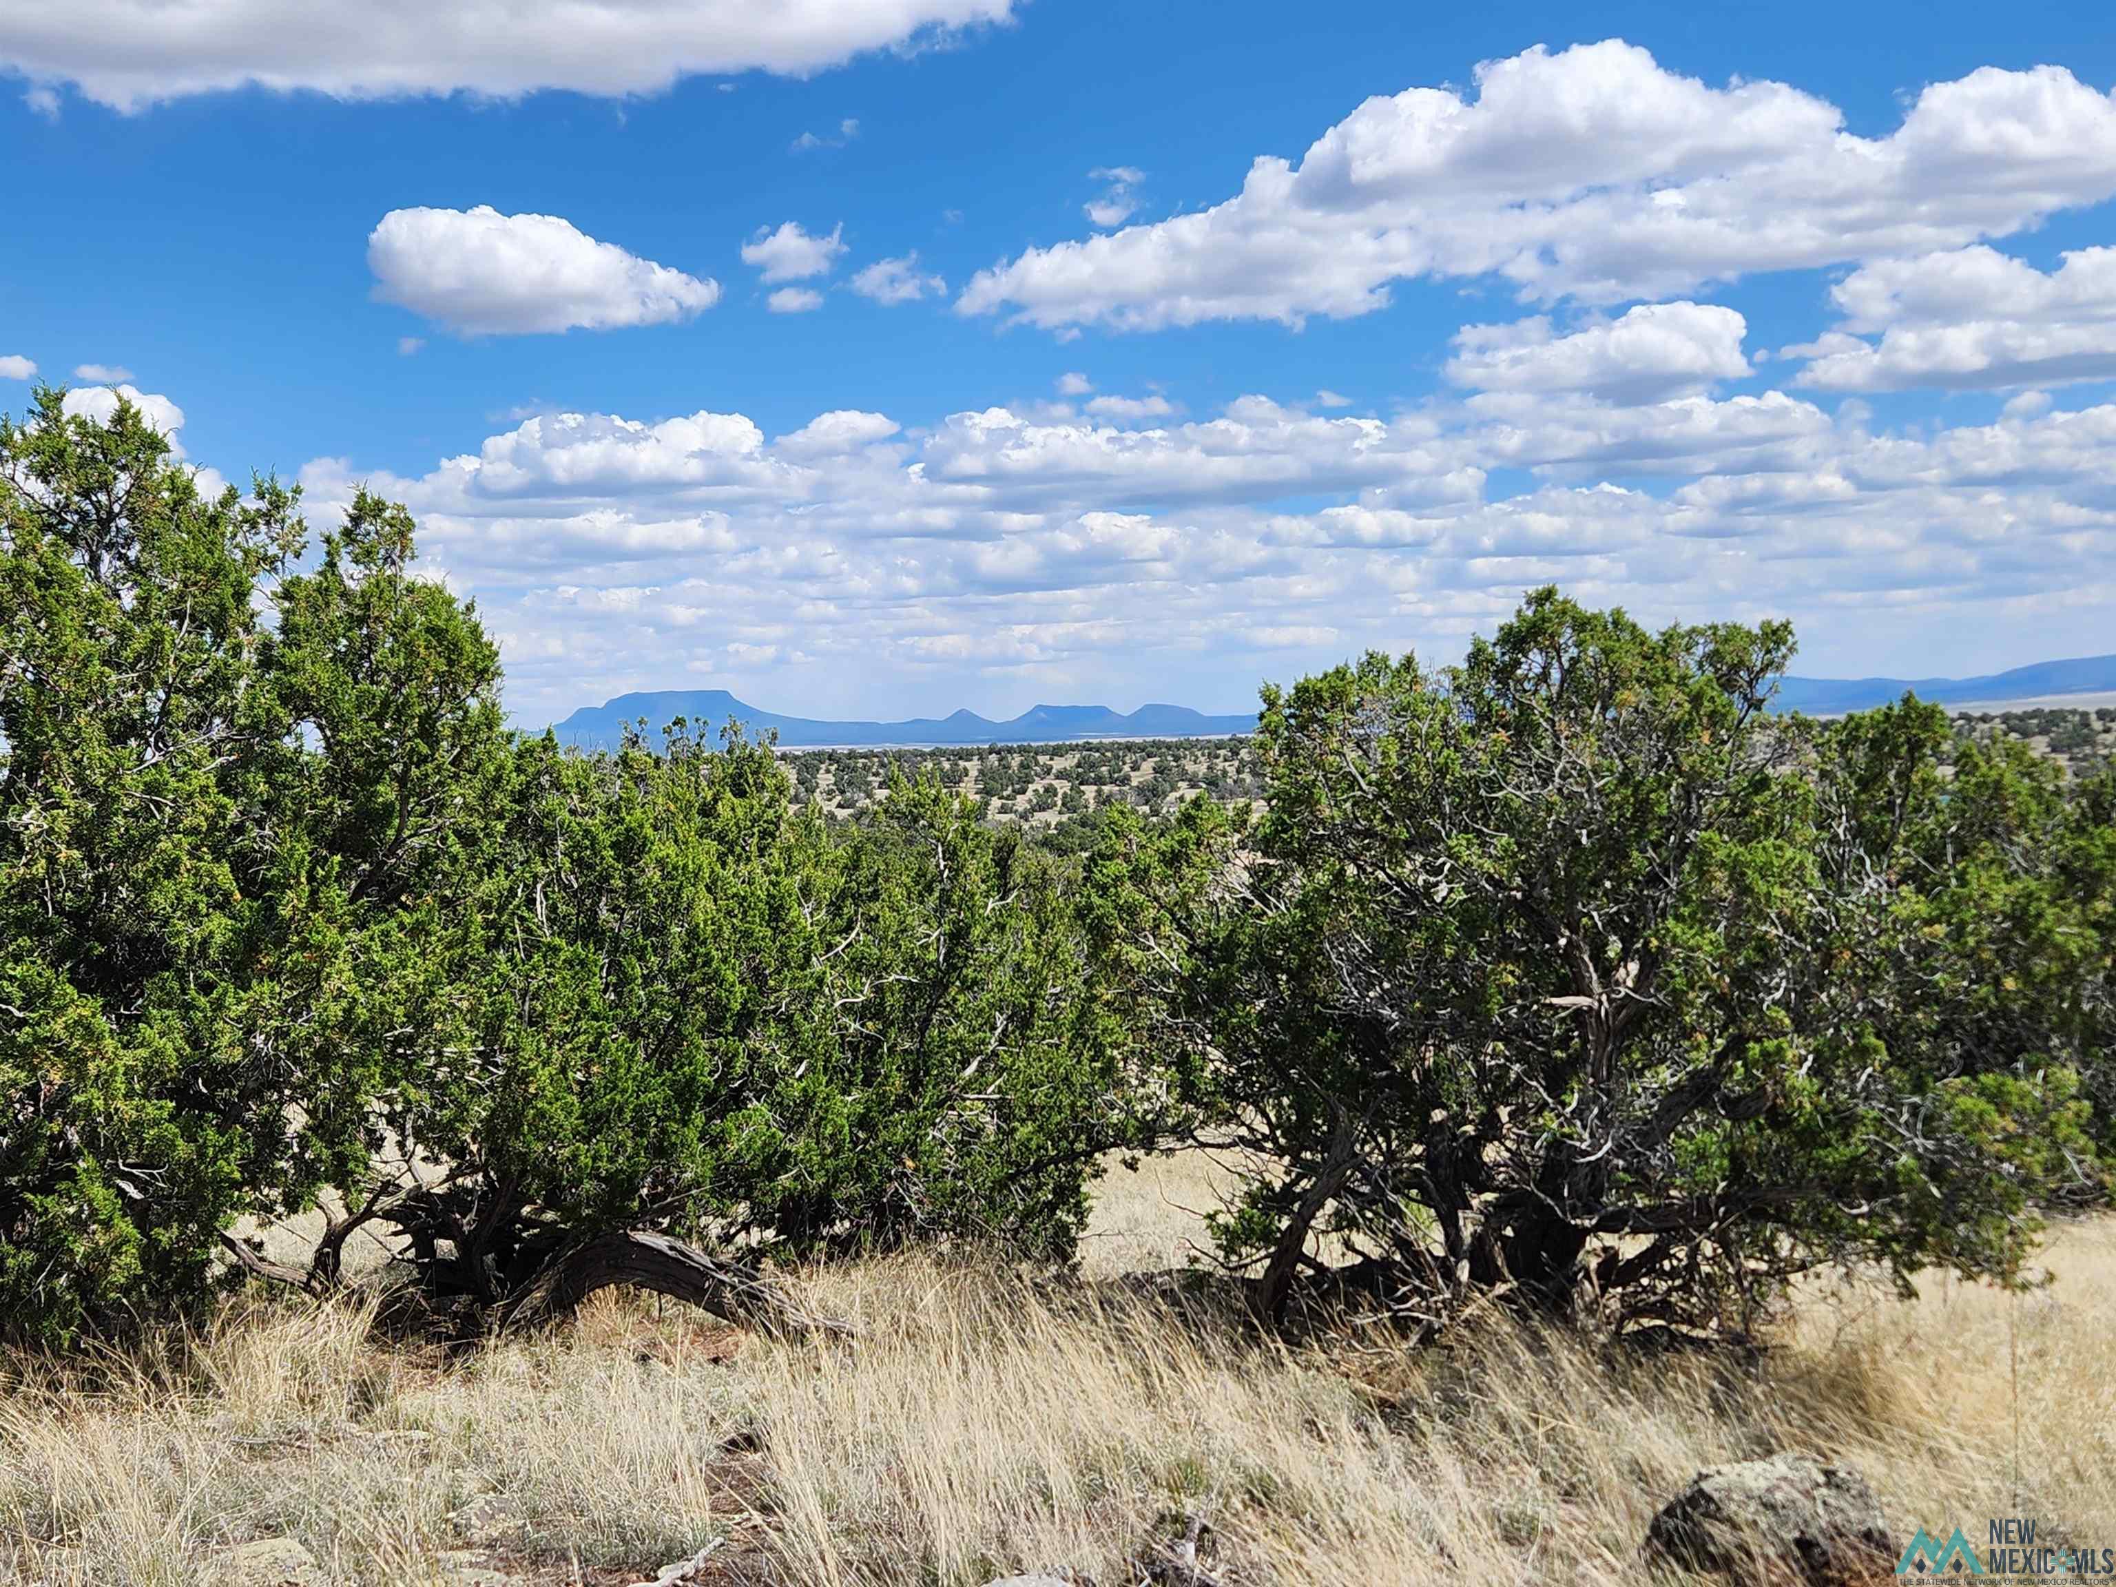
M366 1172L499 667L402 510L290 576L294 495L203 497L129 404L0 430L0 1331L63 1339Z

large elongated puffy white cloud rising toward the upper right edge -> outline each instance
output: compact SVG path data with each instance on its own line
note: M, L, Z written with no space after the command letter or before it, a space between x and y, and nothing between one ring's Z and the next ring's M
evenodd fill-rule
M2057 66L1926 87L1883 138L1784 83L1710 87L1621 40L1378 95L1210 209L980 271L961 313L1121 330L1348 317L1392 281L1530 303L1964 248L2116 195L2116 99Z

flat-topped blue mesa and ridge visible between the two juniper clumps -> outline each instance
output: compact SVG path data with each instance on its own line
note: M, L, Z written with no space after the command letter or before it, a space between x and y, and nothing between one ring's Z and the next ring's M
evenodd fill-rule
M603 705L582 707L565 722L552 724L559 743L578 749L616 749L624 728L645 719L658 734L667 724L686 717L711 724L717 732L726 722L741 722L753 732L770 728L787 749L891 745L946 749L952 745L1033 745L1073 743L1077 738L1223 738L1255 732L1257 715L1212 717L1187 705L1143 705L1136 711L1111 711L1107 705L1033 705L1018 717L990 722L975 711L946 717L912 717L910 722L821 722L760 711L728 690L658 690L652 694L620 694Z

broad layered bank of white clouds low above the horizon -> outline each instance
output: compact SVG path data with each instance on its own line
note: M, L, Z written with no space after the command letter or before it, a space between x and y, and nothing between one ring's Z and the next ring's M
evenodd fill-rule
M1792 616L1839 647L1824 673L2086 654L2116 599L2112 453L2116 404L1877 432L1782 391L1551 389L1390 419L832 411L770 440L741 413L563 413L419 476L300 478L313 516L355 480L417 512L540 724L730 656L760 705L840 679L842 715L952 709L975 679L1011 679L1014 709L1141 675L1210 700L1282 677L1287 647L1447 654L1540 582L1650 622Z

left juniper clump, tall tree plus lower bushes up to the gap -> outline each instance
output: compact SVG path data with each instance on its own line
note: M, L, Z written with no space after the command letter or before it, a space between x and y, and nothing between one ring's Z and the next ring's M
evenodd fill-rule
M1064 1257L1132 1141L1050 855L937 783L798 815L766 745L501 728L360 495L201 499L133 411L0 432L0 1333L309 1287L360 1227L499 1312L607 1232ZM307 1267L239 1225L322 1202Z

